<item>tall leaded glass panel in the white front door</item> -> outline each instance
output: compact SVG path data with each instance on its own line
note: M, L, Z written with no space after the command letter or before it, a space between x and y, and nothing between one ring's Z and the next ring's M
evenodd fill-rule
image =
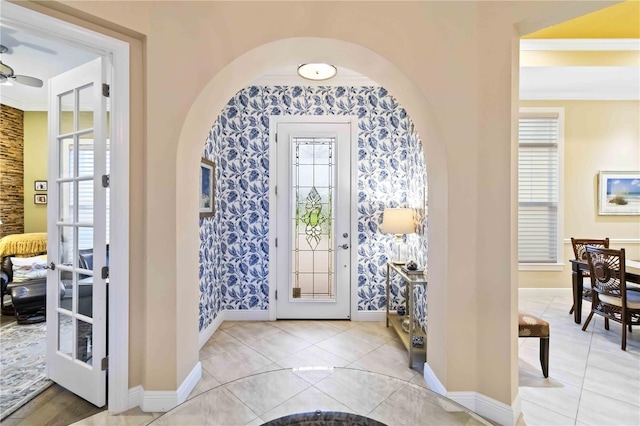
M335 138L292 139L291 297L334 300Z

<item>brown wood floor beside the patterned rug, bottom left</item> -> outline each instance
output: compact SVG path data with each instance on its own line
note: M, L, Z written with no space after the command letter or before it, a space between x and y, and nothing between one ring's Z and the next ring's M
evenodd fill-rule
M0 326L5 326L15 321L14 317L11 316L1 315L1 317ZM54 383L33 400L2 420L2 425L66 426L93 416L105 410L105 408L97 408Z

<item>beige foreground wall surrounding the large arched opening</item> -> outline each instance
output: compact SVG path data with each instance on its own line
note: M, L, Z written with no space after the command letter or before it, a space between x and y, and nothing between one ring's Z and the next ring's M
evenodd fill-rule
M143 35L132 55L143 71L132 124L144 127L131 138L132 200L143 201L131 205L130 248L132 271L144 272L130 280L130 386L175 390L198 362L196 165L211 123L261 73L330 61L389 88L425 141L430 367L450 392L510 405L514 25L535 30L602 7L584 3L47 3Z

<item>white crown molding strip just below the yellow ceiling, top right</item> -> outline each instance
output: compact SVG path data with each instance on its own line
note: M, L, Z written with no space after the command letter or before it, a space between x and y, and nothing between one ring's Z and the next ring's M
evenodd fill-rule
M520 50L640 50L637 38L521 39Z

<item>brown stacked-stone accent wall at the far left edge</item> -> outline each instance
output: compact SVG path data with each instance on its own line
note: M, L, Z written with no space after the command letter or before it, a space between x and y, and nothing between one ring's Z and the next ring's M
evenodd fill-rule
M24 232L24 112L0 105L0 237Z

